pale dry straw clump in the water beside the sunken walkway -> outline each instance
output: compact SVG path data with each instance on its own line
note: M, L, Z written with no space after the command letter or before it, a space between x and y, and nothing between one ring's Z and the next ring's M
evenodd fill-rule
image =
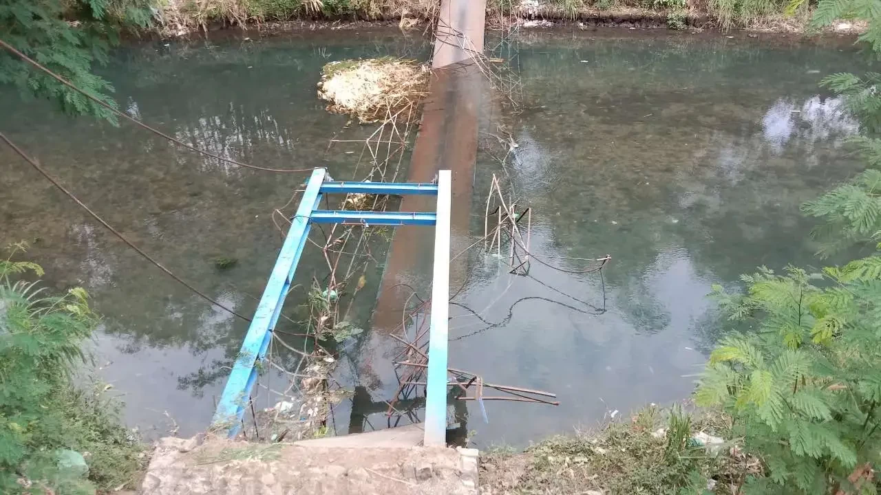
M331 62L322 70L318 96L329 101L329 111L358 117L362 123L392 117L410 120L418 117L412 109L425 97L429 76L426 65L412 60Z

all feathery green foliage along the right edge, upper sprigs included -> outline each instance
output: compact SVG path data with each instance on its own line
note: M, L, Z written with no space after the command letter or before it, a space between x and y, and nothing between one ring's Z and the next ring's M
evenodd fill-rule
M862 0L824 0L813 22L823 26L854 12L870 22L861 40L878 51L876 9ZM877 79L836 74L823 81L864 122L864 135L853 142L872 168L803 205L825 220L814 232L825 240L821 255L877 242L881 231ZM763 476L747 477L744 492L877 493L881 255L821 273L762 268L742 278L744 294L714 287L714 296L750 331L724 338L713 351L696 399L722 407L732 417L732 435L762 460Z

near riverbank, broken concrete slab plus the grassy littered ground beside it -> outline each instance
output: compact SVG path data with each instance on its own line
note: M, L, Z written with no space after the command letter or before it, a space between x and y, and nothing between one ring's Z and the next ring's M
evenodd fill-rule
M420 425L280 443L166 438L140 492L729 494L747 477L765 476L731 431L731 418L718 411L652 404L520 453L417 447Z

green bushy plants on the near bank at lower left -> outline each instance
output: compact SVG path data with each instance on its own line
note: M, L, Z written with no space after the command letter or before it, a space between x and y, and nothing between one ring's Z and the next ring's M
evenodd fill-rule
M125 487L141 468L142 446L121 424L118 403L72 379L98 317L84 290L49 296L28 273L43 271L0 260L0 492Z

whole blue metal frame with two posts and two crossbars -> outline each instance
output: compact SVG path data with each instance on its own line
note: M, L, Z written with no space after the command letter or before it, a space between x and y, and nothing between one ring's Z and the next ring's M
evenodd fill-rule
M241 344L233 371L226 380L211 425L226 429L230 438L241 430L241 418L251 389L257 380L257 363L266 357L272 331L285 304L294 272L303 254L313 223L364 225L436 225L434 231L434 280L431 330L429 334L428 385L426 387L426 445L444 445L447 429L447 335L449 297L449 213L450 172L442 170L437 184L401 182L331 182L327 171L316 168L307 182L291 229L278 253L275 267L263 289L263 296ZM386 194L438 196L436 213L405 211L324 211L315 210L322 194Z

